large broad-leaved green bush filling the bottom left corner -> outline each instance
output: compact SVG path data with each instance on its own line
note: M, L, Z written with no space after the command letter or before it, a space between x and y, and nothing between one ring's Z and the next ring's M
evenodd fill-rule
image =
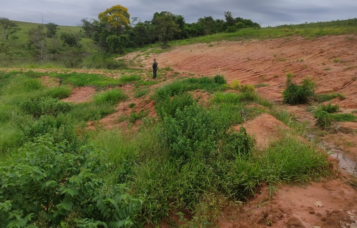
M27 227L37 221L57 227L74 210L81 216L76 225L91 222L117 228L132 224L141 201L131 198L125 186L103 192L105 183L96 174L109 164L100 152L93 145L65 151L65 141L55 144L51 138L40 137L19 150L16 163L0 168L1 227ZM39 221L42 213L45 221Z

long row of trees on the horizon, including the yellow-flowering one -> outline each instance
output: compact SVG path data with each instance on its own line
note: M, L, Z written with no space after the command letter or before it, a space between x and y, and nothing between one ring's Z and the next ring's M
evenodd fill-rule
M214 20L212 16L205 16L197 22L186 23L182 15L161 11L155 12L150 21L142 22L138 18L132 18L130 21L127 8L116 5L100 12L97 20L82 19L81 26L85 37L98 42L104 50L111 53L121 53L127 47L140 47L157 42L165 47L171 40L260 27L251 20L234 18L229 11L225 12L224 16L226 20Z

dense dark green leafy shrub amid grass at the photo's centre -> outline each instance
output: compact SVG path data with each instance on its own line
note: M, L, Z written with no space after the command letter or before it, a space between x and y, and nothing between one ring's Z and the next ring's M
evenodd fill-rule
M228 129L229 120L193 104L177 109L175 117L165 116L162 138L174 159L207 157L216 150L219 135Z

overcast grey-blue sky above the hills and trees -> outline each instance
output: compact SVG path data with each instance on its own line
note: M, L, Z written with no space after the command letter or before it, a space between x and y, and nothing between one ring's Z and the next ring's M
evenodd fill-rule
M106 9L121 5L130 18L151 20L155 12L182 15L186 23L212 16L225 20L224 12L262 27L305 22L346 20L357 17L356 0L0 0L0 17L57 25L80 25L81 19L98 19Z

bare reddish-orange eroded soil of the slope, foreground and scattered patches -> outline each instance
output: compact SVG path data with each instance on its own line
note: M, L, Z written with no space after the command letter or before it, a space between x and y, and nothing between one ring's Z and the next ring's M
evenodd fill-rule
M346 96L345 100L332 100L344 112L357 110L357 36L325 36L313 39L289 37L272 40L251 40L238 42L215 42L212 44L192 44L173 47L170 51L153 54L149 58L136 57L131 53L125 59L138 60L150 72L151 62L155 57L159 62L158 78L160 84L169 82L178 76L212 76L221 74L228 83L239 80L244 84L265 83L257 88L264 98L282 105L281 92L285 88L285 75L295 75L293 81L299 83L310 77L316 82L317 93L338 92ZM174 71L160 75L160 68L169 66ZM90 70L75 70L91 72ZM180 73L179 75L173 72ZM105 74L99 70L96 73ZM160 76L159 76L160 75ZM108 75L113 76L113 75ZM147 80L152 80L145 75ZM150 89L158 85L151 86ZM145 110L155 117L154 102L149 95L134 98L135 88L122 86L130 100L121 102L115 113L103 118L100 124L105 128L127 128L126 122L120 122L120 116L129 116ZM75 88L67 101L82 102L91 98L94 88ZM210 95L194 93L205 104ZM130 103L135 107L129 108ZM307 121L315 127L315 119L306 111L305 105L283 106L295 116L297 121ZM356 115L356 114L355 114ZM140 124L140 123L136 123ZM95 123L89 123L93 127ZM343 122L341 126L350 129L335 134L325 133L313 136L323 142L328 150L338 150L351 162L357 162L357 123ZM258 148L265 148L270 140L280 137L280 129L288 128L275 117L262 114L244 123L247 132L255 138ZM239 126L236 126L239 128ZM314 139L312 138L312 139ZM222 211L218 227L224 228L336 228L356 227L357 192L346 184L350 177L338 166L338 159L329 158L337 170L333 178L322 182L306 183L304 186L277 186L278 192L269 200L268 186L263 186L255 197L241 206L230 206ZM357 169L357 168L356 168ZM354 172L356 172L355 170ZM350 170L351 172L351 170Z

